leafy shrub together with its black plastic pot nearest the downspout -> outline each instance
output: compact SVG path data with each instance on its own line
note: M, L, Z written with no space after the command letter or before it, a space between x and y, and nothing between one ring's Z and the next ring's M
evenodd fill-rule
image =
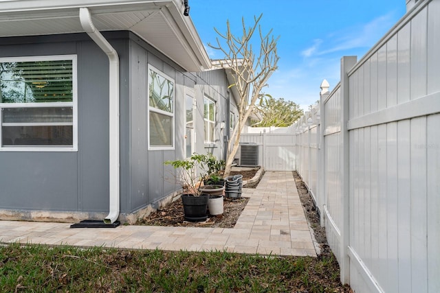
M172 165L177 173L176 180L180 183L184 192L181 194L181 201L184 205L184 220L190 222L202 222L208 218L208 194L203 194L199 189L203 176L197 176L197 172L203 169L201 154L192 154L189 159L166 161L165 165Z

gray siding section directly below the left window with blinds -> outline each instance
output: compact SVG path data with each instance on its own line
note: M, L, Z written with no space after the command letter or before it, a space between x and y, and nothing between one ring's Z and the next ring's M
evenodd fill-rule
M77 170L66 167L76 161L77 155L73 152L1 153L1 209L76 209L79 201Z

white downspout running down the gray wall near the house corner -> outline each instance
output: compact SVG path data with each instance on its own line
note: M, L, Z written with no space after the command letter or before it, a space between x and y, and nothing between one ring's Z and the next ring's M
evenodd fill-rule
M119 56L110 43L96 30L89 9L80 8L83 29L109 57L109 215L104 218L113 224L119 217L120 174L119 174Z

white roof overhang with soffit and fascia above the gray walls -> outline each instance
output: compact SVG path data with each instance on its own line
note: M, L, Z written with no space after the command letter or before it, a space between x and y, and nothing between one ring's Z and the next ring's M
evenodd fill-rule
M129 30L187 71L211 67L180 0L3 0L0 37L84 32L81 7L89 9L101 32Z

